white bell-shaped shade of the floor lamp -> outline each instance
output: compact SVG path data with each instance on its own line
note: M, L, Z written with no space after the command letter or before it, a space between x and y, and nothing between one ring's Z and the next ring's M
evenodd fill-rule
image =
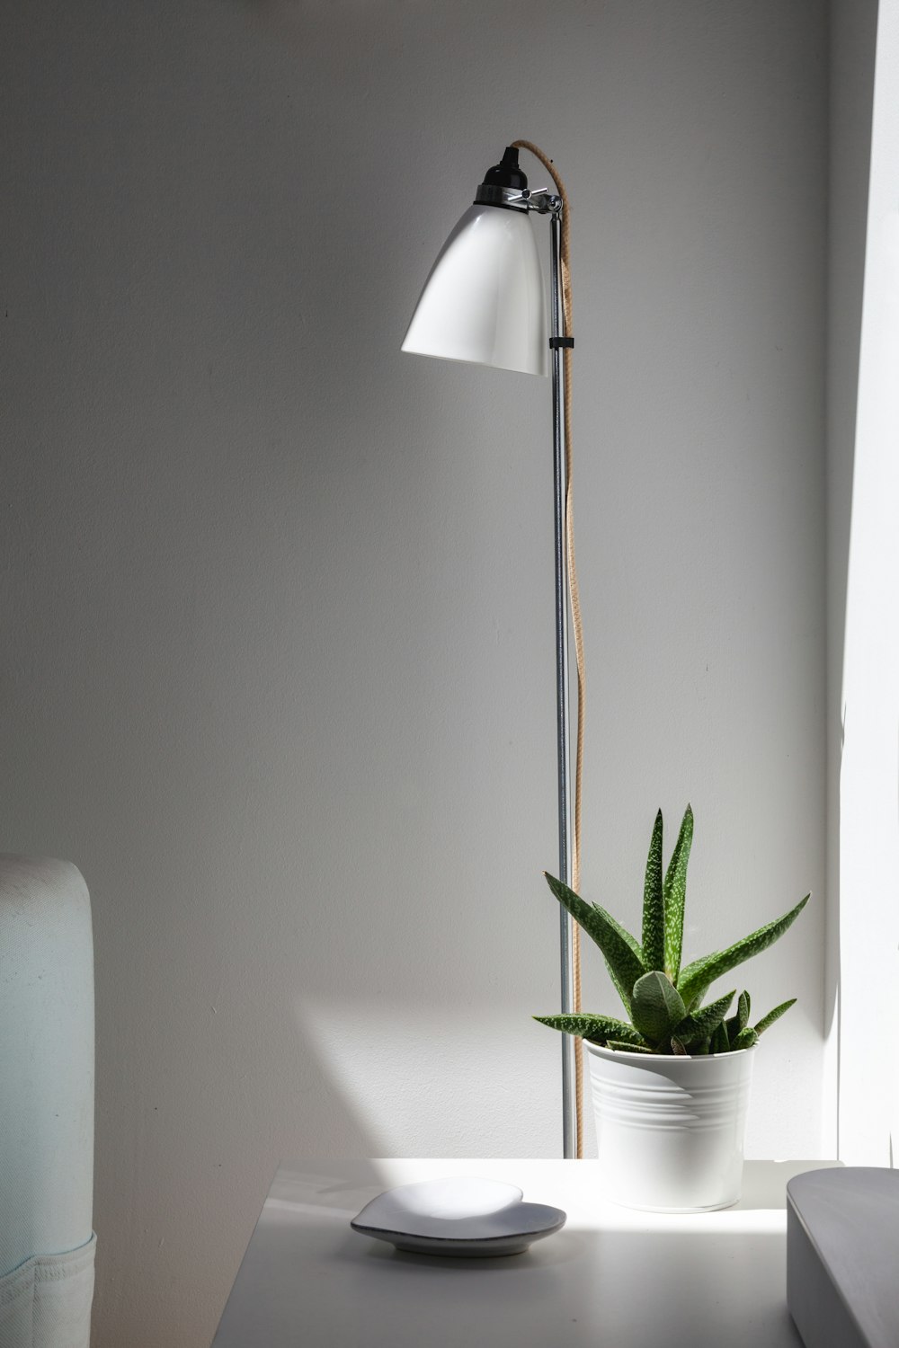
M469 206L431 268L403 350L549 375L546 293L528 212Z

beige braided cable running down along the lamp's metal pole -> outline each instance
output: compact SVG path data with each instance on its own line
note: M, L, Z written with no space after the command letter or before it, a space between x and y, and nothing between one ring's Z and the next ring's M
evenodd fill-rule
M571 208L569 205L565 183L553 160L530 140L514 140L516 150L530 150L540 160L546 171L551 175L555 189L562 198L562 226L561 263L562 263L562 321L563 336L571 334L571 268L570 268L570 241L571 241ZM577 584L577 566L574 563L574 497L571 491L571 348L562 348L562 368L565 372L565 546L567 553L569 599L571 603L571 630L574 632L574 659L577 665L577 740L574 755L574 830L571 838L571 888L580 892L581 888L581 782L584 768L584 716L586 709L586 681L584 662L584 627L581 623L581 593ZM571 923L571 969L573 1010L581 1010L581 929L577 922ZM577 1158L584 1157L584 1045L581 1039L574 1041L574 1095L577 1108Z

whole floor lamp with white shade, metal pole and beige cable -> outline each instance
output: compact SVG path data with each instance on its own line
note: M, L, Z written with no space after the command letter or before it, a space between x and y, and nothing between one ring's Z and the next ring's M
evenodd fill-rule
M532 151L557 191L528 190L519 148ZM515 142L484 175L474 204L443 244L408 325L403 350L443 360L553 376L553 488L555 515L555 708L559 879L578 883L580 759L584 728L580 605L574 581L569 431L570 325L567 201L551 162L530 142ZM531 214L550 220L550 321ZM570 589L573 584L573 588ZM569 748L569 592L578 656L578 754L571 811ZM562 1012L580 1010L578 930L559 907ZM562 1151L581 1154L580 1041L562 1035Z

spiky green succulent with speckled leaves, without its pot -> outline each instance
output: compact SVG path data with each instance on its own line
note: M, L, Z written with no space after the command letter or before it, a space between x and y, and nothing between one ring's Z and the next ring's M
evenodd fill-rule
M708 1006L702 1006L702 999L717 979L774 945L793 926L810 895L806 894L782 918L759 927L726 950L705 954L682 968L683 905L691 844L693 810L687 805L674 852L663 872L659 810L646 863L642 942L598 903L586 903L567 884L546 875L555 898L602 952L628 1019L577 1012L538 1015L534 1016L535 1020L592 1043L601 1043L607 1049L694 1055L751 1049L759 1042L759 1035L790 1010L795 998L783 1002L751 1026L748 992L740 993L732 1015L728 1012L736 988Z

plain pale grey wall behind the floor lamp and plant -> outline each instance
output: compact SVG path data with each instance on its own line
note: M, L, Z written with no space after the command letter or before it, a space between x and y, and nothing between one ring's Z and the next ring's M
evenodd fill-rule
M822 895L826 7L3 26L3 847L93 895L97 1348L195 1348L279 1157L559 1147L549 391L399 352L515 136L574 208L584 890L636 923L691 799L689 953ZM799 996L753 1155L822 1146L822 941L745 971Z

